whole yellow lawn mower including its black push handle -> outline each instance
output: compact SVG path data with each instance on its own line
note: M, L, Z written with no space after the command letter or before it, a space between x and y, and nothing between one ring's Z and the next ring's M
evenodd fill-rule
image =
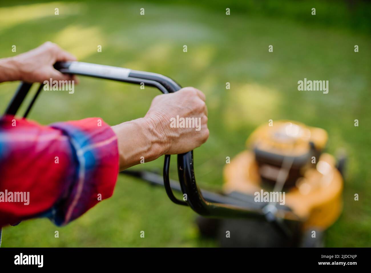
M151 72L84 62L57 62L54 67L67 74L145 84L164 94L181 89L172 79ZM17 113L31 86L19 85L6 114ZM42 89L40 84L23 117ZM294 121L263 125L249 137L248 149L224 168L223 191L218 193L198 187L193 151L177 155L179 181L169 178L170 155L165 155L162 176L130 169L122 174L163 186L172 202L200 215L200 233L217 237L221 246L321 246L323 231L341 212L345 164L340 160L336 167L334 157L323 153L326 140L324 130ZM264 192L283 193L285 200L259 202L257 193Z

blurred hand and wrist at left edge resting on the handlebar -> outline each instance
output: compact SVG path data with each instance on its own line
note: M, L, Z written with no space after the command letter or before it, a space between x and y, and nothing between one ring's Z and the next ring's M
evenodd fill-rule
M52 42L43 43L35 49L1 61L0 71L7 71L7 75L0 82L44 82L51 78L53 81L75 80L78 83L73 75L62 74L54 69L55 62L76 61L76 58Z

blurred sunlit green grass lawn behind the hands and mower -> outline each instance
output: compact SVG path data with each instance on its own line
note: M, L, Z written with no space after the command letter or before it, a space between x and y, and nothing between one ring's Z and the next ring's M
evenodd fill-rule
M145 16L139 15L141 7ZM207 96L210 138L195 150L194 160L197 181L206 188L221 187L226 156L242 151L259 124L292 119L324 128L328 151L344 147L349 155L344 212L326 232L326 246L370 246L370 36L340 23L336 27L336 22L326 26L269 14L231 14L225 15L223 5L211 9L170 2L3 4L0 58L51 40L80 61L158 72L201 89ZM97 52L98 45L102 52ZM273 53L268 45L273 45ZM303 78L329 80L329 93L298 91ZM29 117L48 124L99 116L113 125L144 116L158 94L153 88L80 80L73 95L44 92ZM0 85L1 111L17 84ZM355 119L359 127L354 127ZM176 178L174 160L171 176ZM161 170L162 158L138 167ZM355 193L359 201L354 201ZM46 219L24 221L4 228L3 246L217 246L200 239L195 216L189 208L172 204L164 189L120 176L114 196L78 220L66 227ZM54 237L56 230L59 238ZM141 231L145 238L140 238Z

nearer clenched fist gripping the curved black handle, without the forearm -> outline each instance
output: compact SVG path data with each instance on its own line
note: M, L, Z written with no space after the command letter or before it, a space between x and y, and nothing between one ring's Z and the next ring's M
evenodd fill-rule
M206 97L203 92L193 87L156 96L144 119L152 133L163 142L162 154L174 155L189 152L201 146L209 137L207 128ZM171 121L176 124L179 118L194 118L197 128L171 127ZM175 122L174 122L175 120ZM196 130L197 129L197 130Z

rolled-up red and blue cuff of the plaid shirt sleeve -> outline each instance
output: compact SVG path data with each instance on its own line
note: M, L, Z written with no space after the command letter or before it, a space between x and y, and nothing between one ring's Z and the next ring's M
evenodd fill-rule
M69 137L75 157L76 175L50 217L56 225L65 225L112 195L118 175L117 137L101 118L50 126Z

